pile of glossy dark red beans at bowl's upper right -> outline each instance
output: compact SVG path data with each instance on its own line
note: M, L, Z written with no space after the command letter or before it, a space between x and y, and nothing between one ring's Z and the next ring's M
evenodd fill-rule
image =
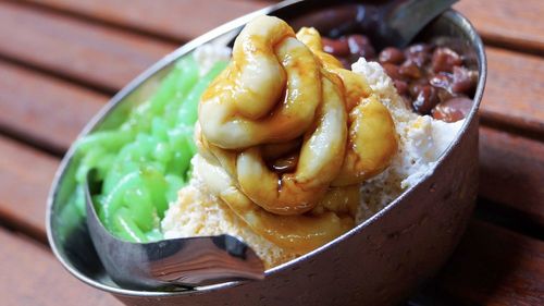
M394 47L376 52L370 40L359 34L323 39L325 51L346 68L359 57L379 61L393 78L398 94L419 114L455 122L472 107L478 72L463 65L463 57L448 47L415 44L400 50Z

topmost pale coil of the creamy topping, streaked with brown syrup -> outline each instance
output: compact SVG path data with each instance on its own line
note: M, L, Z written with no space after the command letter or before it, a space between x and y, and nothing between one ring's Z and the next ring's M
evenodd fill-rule
M199 121L221 148L281 143L306 132L321 99L311 51L284 21L261 16L242 30L231 64L202 95Z

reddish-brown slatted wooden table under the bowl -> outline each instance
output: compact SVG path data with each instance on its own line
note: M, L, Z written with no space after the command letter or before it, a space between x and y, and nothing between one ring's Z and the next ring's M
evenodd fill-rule
M273 1L0 1L0 304L119 305L63 270L46 197L78 131L144 69ZM544 305L544 2L463 0L487 45L480 197L409 305Z

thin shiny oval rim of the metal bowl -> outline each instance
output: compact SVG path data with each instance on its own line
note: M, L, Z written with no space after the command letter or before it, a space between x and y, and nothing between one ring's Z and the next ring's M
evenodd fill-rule
M284 7L288 7L288 5L292 5L294 3L297 3L297 2L301 2L304 0L290 0L290 1L284 1L284 2L281 2L279 4L275 4L275 5L272 5L272 7L269 7L269 8L264 8L264 9L261 9L259 11L256 11L256 12L252 12L250 14L247 14L245 16L242 16L239 19L236 19L230 23L226 23L220 27L217 27L214 28L213 30L185 44L184 46L180 47L178 49L174 50L173 52L171 52L170 54L165 56L164 58L162 58L161 60L159 60L158 62L156 62L153 65L151 65L149 69L147 69L145 72L143 72L140 75L138 75L136 78L134 78L131 83L128 83L123 89L121 89L115 96L112 97L112 99L86 124L86 126L83 128L83 131L79 133L77 139L79 139L81 137L87 135L88 133L90 133L102 120L103 118L113 109L115 108L115 106L123 100L123 98L125 96L127 96L128 94L131 94L135 88L137 88L144 81L146 81L147 78L149 78L150 76L152 76L154 73L159 72L160 70L162 70L163 68L168 66L169 64L171 64L173 61L177 60L178 58L181 58L182 56L193 51L196 47L202 45L203 42L207 42L207 41L210 41L212 40L213 38L218 37L219 35L221 34L224 34L228 30L233 30L235 28L238 28L239 26L243 26L244 24L246 24L249 20L258 16L258 15L262 15L262 14L268 14L270 12L273 12L273 11L276 11L279 9L282 9ZM484 86L485 86L485 79L486 79L486 74L487 74L487 63L486 63L486 60L485 60L485 54L484 54L484 48L483 48L483 42L480 38L480 36L477 34L474 27L472 26L472 24L463 16L461 15L459 12L455 11L455 10L449 10L447 12L445 12L443 14L443 16L449 19L450 21L453 21L454 23L456 23L457 25L460 25L462 26L463 28L468 29L469 30L469 36L473 38L473 41L475 41L475 46L478 47L475 52L477 52L477 56L478 56L478 59L479 59L479 78L478 78L478 87L477 87L477 90L475 90L475 95L474 95L474 105L470 111L470 113L468 114L468 117L465 119L465 123L463 123L463 126L461 127L461 130L459 131L459 135L465 133L465 131L467 130L469 123L473 120L473 117L478 115L478 109L479 109L479 106L480 106L480 102L482 100L482 95L483 95L483 91L484 91ZM444 160L448 155L449 152L452 151L452 148L455 147L457 145L457 143L459 142L459 136L456 137L456 139L449 144L448 148L446 149L446 151L438 158L436 164L440 164L442 163L442 160ZM75 144L75 142L74 142ZM79 272L76 268L72 267L72 265L70 265L69 262L66 262L65 258L60 254L60 250L58 249L57 247L57 244L53 240L53 235L52 235L52 229L51 229L51 218L52 218L52 206L53 206L53 200L55 198L55 194L58 192L58 185L59 183L61 182L61 180L63 179L63 175L65 173L65 169L67 167L67 164L70 163L73 155L74 155L74 151L75 151L75 146L74 144L72 144L72 146L70 147L70 149L67 150L66 155L64 156L64 158L62 159L60 166L59 166L59 169L58 171L55 172L55 175L53 178L53 183L51 185L51 189L49 192L49 195L48 195L48 199L47 199L47 211L46 211L46 228L47 228L47 236L48 236L48 241L49 241L49 244L52 248L52 252L53 254L55 255L55 257L59 259L59 261L62 264L62 266L69 270L74 277L76 277L77 279L79 279L81 281L94 286L94 287L97 287L97 289L100 289L102 291L106 291L106 292L110 292L112 294L120 294L120 295L127 295L127 296L144 296L144 297L169 297L169 296L178 296L178 295L186 295L186 294L203 294L206 292L209 292L209 291L213 291L213 290L222 290L222 289L226 289L226 287L230 287L230 286L235 286L235 285L243 285L244 283L243 282L227 282L227 283L221 283L221 284L215 284L215 285L208 285L208 286L201 286L201 287L197 287L195 290L190 290L190 291L178 291L178 292L166 292L166 291L135 291L135 290L126 290L126 289L122 289L122 287L116 287L116 286L109 286L107 284L103 284L103 283L100 283L96 280L92 280L88 277L86 277L85 274L83 274L82 272ZM423 181L425 178L432 175L434 172L434 168L433 169L430 169L426 173L425 173L425 176L423 179L421 179L421 181ZM373 223L375 220L380 219L380 217L384 213L386 213L390 209L393 209L395 207L395 205L399 201L403 200L403 198L407 197L411 191L415 188L416 186L412 186L410 188L408 188L407 191L405 191L400 196L398 196L395 200L393 200L392 203L390 203L385 208L381 209L379 212L376 212L374 216L372 216L371 218L367 219L364 222L358 224L357 227L355 227L354 229L351 229L350 231L348 231L347 233L336 237L335 240L333 240L332 242L306 254L306 255L302 255L292 261L288 261L288 262L285 262L281 266L277 266L277 267L274 267L272 269L269 269L265 271L265 277L269 277L271 274L274 274L275 272L279 272L281 270L284 270L286 269L287 267L298 262L298 261L301 261L301 260L306 260L307 258L309 257L312 257L321 252L323 252L324 249L329 248L329 247L332 247L334 246L335 244L339 243L341 241L351 236L351 235L355 235L357 233L359 233L360 231L362 231L366 227L368 227L369 224Z

